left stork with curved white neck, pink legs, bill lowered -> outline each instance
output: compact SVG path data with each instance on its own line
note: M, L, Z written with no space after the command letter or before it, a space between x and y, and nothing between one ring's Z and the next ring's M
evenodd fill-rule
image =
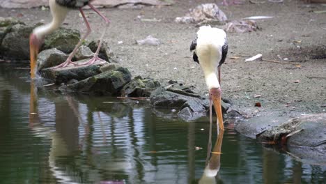
M100 52L103 36L107 30L107 26L109 25L109 20L107 19L107 17L104 17L104 15L100 13L100 11L98 11L94 6L91 5L91 1L93 0L49 0L49 8L52 14L52 22L46 25L36 27L36 29L33 30L33 33L31 33L29 39L31 54L31 78L34 78L36 75L36 61L38 51L43 43L45 36L47 36L49 33L52 33L56 29L59 29L59 26L61 26L61 24L65 20L65 17L67 16L68 11L70 9L79 9L81 16L83 17L84 22L86 23L87 31L84 36L81 37L81 40L79 40L79 43L77 43L75 49L72 50L71 54L68 56L68 59L65 62L61 63L59 66L56 66L56 68L63 68L70 64L73 64L74 66L77 65L77 63L73 63L71 61L72 57L77 52L77 49L81 45L82 40L84 40L89 35L89 33L91 33L91 26L89 25L84 15L84 11L81 9L84 6L89 6L92 10L98 13L98 15L100 15L100 17L102 17L102 19L104 20L106 26L104 27L104 31L102 32L102 36L100 37L98 49L96 50L93 58L87 61L86 63L81 63L80 65L91 65L95 61L102 60L98 57L98 53Z

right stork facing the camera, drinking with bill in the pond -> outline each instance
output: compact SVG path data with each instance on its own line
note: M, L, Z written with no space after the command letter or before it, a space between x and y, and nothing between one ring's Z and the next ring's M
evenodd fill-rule
M201 26L196 38L190 45L193 52L193 59L201 65L205 82L208 86L210 95L210 139L212 127L212 102L217 114L217 132L224 130L222 117L222 91L221 91L221 66L228 53L226 33L222 29L212 28L211 26ZM217 78L217 71L219 77ZM210 141L211 142L211 141Z

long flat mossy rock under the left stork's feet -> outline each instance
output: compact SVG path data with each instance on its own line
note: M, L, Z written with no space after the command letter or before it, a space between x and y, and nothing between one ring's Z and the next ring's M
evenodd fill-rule
M77 61L84 63L88 59ZM107 64L105 61L96 61L90 66L67 66L65 68L45 68L40 71L40 75L53 80L56 84L67 83L71 79L82 80L100 74L100 68Z

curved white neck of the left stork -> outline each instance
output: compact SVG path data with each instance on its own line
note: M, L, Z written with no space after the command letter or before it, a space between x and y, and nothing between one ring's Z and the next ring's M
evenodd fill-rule
M52 22L43 26L39 26L33 30L33 33L38 38L44 38L56 29L59 29L59 26L61 26L65 20L65 17L67 16L68 8L59 6L55 0L50 0L49 6L52 14Z

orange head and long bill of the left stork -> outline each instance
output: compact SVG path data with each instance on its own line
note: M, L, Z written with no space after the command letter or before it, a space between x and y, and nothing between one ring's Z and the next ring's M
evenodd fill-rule
M36 33L31 33L29 36L29 54L31 59L31 78L35 78L36 75L36 65L38 61L38 52L40 50L40 46L43 43L43 38L39 38Z

